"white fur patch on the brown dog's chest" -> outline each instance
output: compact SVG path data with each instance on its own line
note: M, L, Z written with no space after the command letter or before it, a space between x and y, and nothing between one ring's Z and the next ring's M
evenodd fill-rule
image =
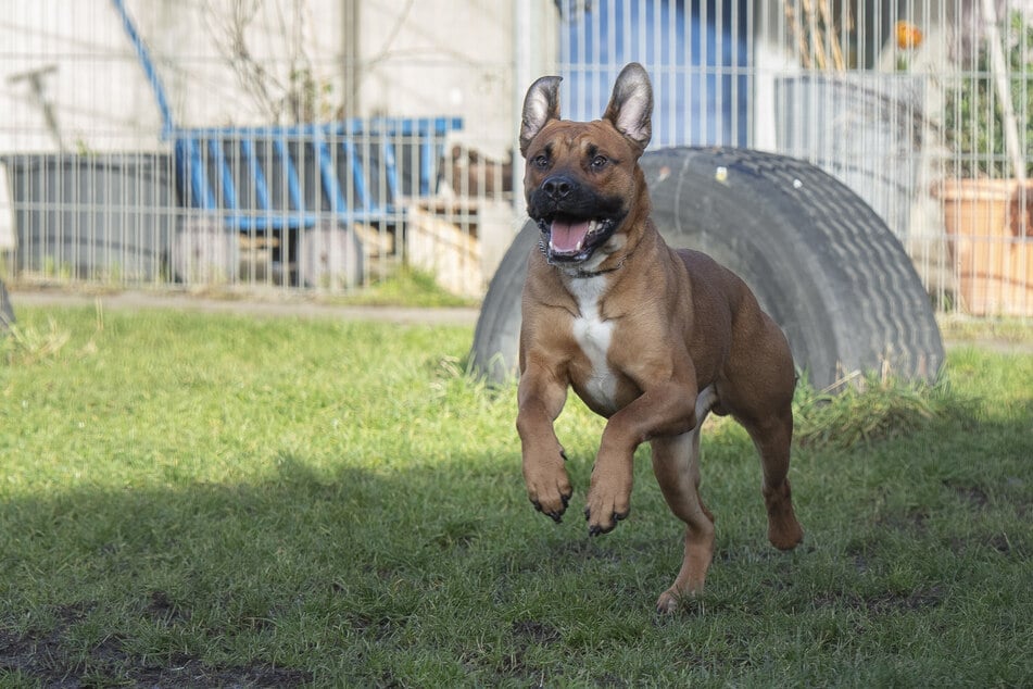
M606 288L606 277L587 277L569 281L570 292L578 300L580 315L574 320L574 339L592 365L583 389L596 402L616 405L617 377L606 362L614 323L604 321L599 309Z

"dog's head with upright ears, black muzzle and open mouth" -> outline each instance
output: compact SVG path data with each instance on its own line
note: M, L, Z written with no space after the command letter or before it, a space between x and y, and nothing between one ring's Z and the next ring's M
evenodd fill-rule
M559 80L538 79L524 100L527 213L550 263L594 267L626 246L627 228L648 212L638 161L652 137L653 88L631 63L602 120L569 122L559 120Z

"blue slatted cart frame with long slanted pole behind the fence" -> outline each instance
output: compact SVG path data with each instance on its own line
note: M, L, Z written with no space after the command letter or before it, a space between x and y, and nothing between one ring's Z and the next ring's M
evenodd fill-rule
M177 127L161 78L125 1L112 0L112 4L154 91L162 116L162 138L174 141L176 177L187 206L217 214L227 228L240 231L312 227L326 215L325 205L331 216L343 223L396 217L402 210L395 202L403 191L395 151L399 142L415 145L419 151L418 178L410 193L429 196L434 191L444 137L449 131L463 128L461 117L355 117L288 126ZM257 141L268 142L274 154L263 160L255 151ZM294 160L292 145L301 153L301 160ZM232 160L227 160L227 149ZM318 177L315 180L318 208L313 209L306 208L298 174L298 166L304 164L306 154L312 156ZM377 158L386 199L374 197L368 184L367 163L370 161L365 160L367 155ZM344 161L344 179L339 178L335 160ZM287 191L287 199L279 208L269 189L270 181L277 179L284 181ZM253 190L248 209L239 204L241 184Z

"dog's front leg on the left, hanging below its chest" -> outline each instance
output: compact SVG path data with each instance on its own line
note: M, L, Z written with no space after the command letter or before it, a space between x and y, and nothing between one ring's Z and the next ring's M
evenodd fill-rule
M537 510L555 522L559 522L574 492L563 465L567 458L553 429L566 399L566 381L555 372L530 364L520 375L517 433L524 452L527 496Z

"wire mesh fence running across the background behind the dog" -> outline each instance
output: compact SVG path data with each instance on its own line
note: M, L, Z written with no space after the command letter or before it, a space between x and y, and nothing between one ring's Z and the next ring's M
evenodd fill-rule
M522 82L594 118L637 60L653 148L807 160L941 309L1031 316L1031 5L0 0L0 275L344 291L412 265L477 298L521 224Z

